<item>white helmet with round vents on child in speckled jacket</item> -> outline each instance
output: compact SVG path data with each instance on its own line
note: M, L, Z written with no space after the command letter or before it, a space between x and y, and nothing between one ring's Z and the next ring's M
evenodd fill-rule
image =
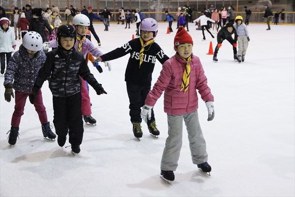
M40 51L42 49L42 37L37 32L28 32L23 38L23 46L31 51Z

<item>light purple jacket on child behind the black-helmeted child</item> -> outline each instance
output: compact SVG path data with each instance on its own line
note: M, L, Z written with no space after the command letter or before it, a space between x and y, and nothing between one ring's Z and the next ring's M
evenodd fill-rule
M78 36L80 37L80 35ZM49 41L49 47L58 47L57 40ZM78 50L78 48L79 48L79 41L77 40L75 44L75 49ZM100 50L98 50L89 39L85 39L82 43L82 53L85 59L86 59L87 52L89 52L94 57L100 57L103 55L103 53Z

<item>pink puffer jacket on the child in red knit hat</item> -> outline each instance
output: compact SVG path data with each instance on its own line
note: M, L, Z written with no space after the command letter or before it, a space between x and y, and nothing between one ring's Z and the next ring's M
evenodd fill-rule
M164 93L164 112L171 115L186 114L198 109L197 91L204 101L214 101L207 85L207 77L197 56L192 55L190 63L190 82L188 90L180 92L181 80L186 62L176 54L163 64L160 76L149 91L146 104L154 106L157 99Z

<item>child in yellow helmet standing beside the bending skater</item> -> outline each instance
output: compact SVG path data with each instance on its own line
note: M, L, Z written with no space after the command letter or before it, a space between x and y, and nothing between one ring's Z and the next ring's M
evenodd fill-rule
M250 41L247 26L243 24L243 17L236 16L236 24L234 24L234 28L237 33L237 61L240 63L245 61L245 55Z

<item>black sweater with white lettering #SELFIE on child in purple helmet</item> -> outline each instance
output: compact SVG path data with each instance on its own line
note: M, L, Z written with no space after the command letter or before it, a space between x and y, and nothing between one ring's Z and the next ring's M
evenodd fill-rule
M157 43L152 43L145 47L144 62L139 65L139 52L141 50L140 38L130 40L120 48L101 56L102 61L115 60L130 54L130 58L125 71L125 81L137 85L150 86L151 74L153 72L156 59L164 64L169 59Z

